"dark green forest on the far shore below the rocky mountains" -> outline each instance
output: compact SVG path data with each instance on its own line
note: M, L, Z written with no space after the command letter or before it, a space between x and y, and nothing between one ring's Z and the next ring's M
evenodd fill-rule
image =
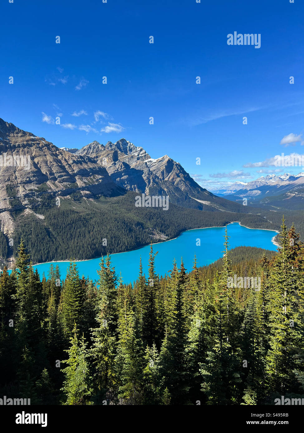
M231 221L240 221L242 225L252 228L280 227L276 213L271 213L273 221L270 222L262 214L209 212L174 204L170 204L169 210L163 211L161 208L135 207L134 196L135 193L129 192L123 197L96 203L62 200L60 207L53 200L52 206L36 210L45 219L39 219L33 214L19 215L15 221L11 254L14 253L16 257L21 237L31 253L33 263L41 263L68 260L70 257L76 260L92 259L106 255L107 252L136 249L151 242L151 228L172 239L187 229L225 226ZM295 219L296 223L299 220L301 228L301 215ZM291 225L291 217L287 216L287 221ZM152 239L154 241L159 240Z

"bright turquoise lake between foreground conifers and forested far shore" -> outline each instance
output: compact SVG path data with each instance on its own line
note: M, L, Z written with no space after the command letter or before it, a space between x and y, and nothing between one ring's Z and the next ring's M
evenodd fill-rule
M276 250L271 239L277 234L273 230L248 229L239 223L231 223L227 226L228 235L230 236L230 248L236 246L256 246L270 250ZM172 269L172 262L175 258L177 265L180 265L180 258L187 271L193 266L194 254L196 254L197 265L209 265L222 256L225 227L210 227L206 229L193 229L183 232L176 239L160 242L153 245L154 252L158 251L155 258L156 271L159 275L167 274ZM200 239L200 246L196 246L196 240ZM140 257L143 262L144 273L147 275L148 259L150 246L111 254L111 262L115 267L116 273L123 278L124 283L130 283L137 279L139 270ZM97 269L99 268L100 258L92 260L79 261L77 263L79 275L91 278L93 281L98 280ZM69 262L47 262L34 265L39 272L40 278L43 272L47 276L49 266L59 265L61 278L65 278L66 269Z

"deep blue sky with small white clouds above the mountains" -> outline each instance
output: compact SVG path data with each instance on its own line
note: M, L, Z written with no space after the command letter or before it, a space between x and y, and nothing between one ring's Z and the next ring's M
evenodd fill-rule
M124 137L210 190L304 171L272 164L304 154L303 2L201 1L3 0L0 117L58 147Z

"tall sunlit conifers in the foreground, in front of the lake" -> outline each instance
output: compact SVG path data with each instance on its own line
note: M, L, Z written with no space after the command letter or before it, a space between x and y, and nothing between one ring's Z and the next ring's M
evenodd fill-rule
M304 394L304 244L284 219L281 249L235 287L226 234L213 278L140 263L134 287L109 256L97 286L74 262L39 281L23 242L0 274L0 392L31 404L274 404ZM241 257L241 254L239 255ZM250 260L249 260L250 262ZM243 271L243 265L239 271ZM5 374L3 375L3 373Z

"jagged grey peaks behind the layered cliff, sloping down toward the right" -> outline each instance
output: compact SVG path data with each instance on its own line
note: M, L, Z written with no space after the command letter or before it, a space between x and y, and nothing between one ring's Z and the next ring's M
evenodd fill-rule
M179 204L186 197L206 200L206 195L212 196L168 155L152 159L142 147L134 146L125 139L116 143L108 142L106 145L94 141L76 154L92 157L107 169L116 184L127 190L150 195L169 195L171 201Z

